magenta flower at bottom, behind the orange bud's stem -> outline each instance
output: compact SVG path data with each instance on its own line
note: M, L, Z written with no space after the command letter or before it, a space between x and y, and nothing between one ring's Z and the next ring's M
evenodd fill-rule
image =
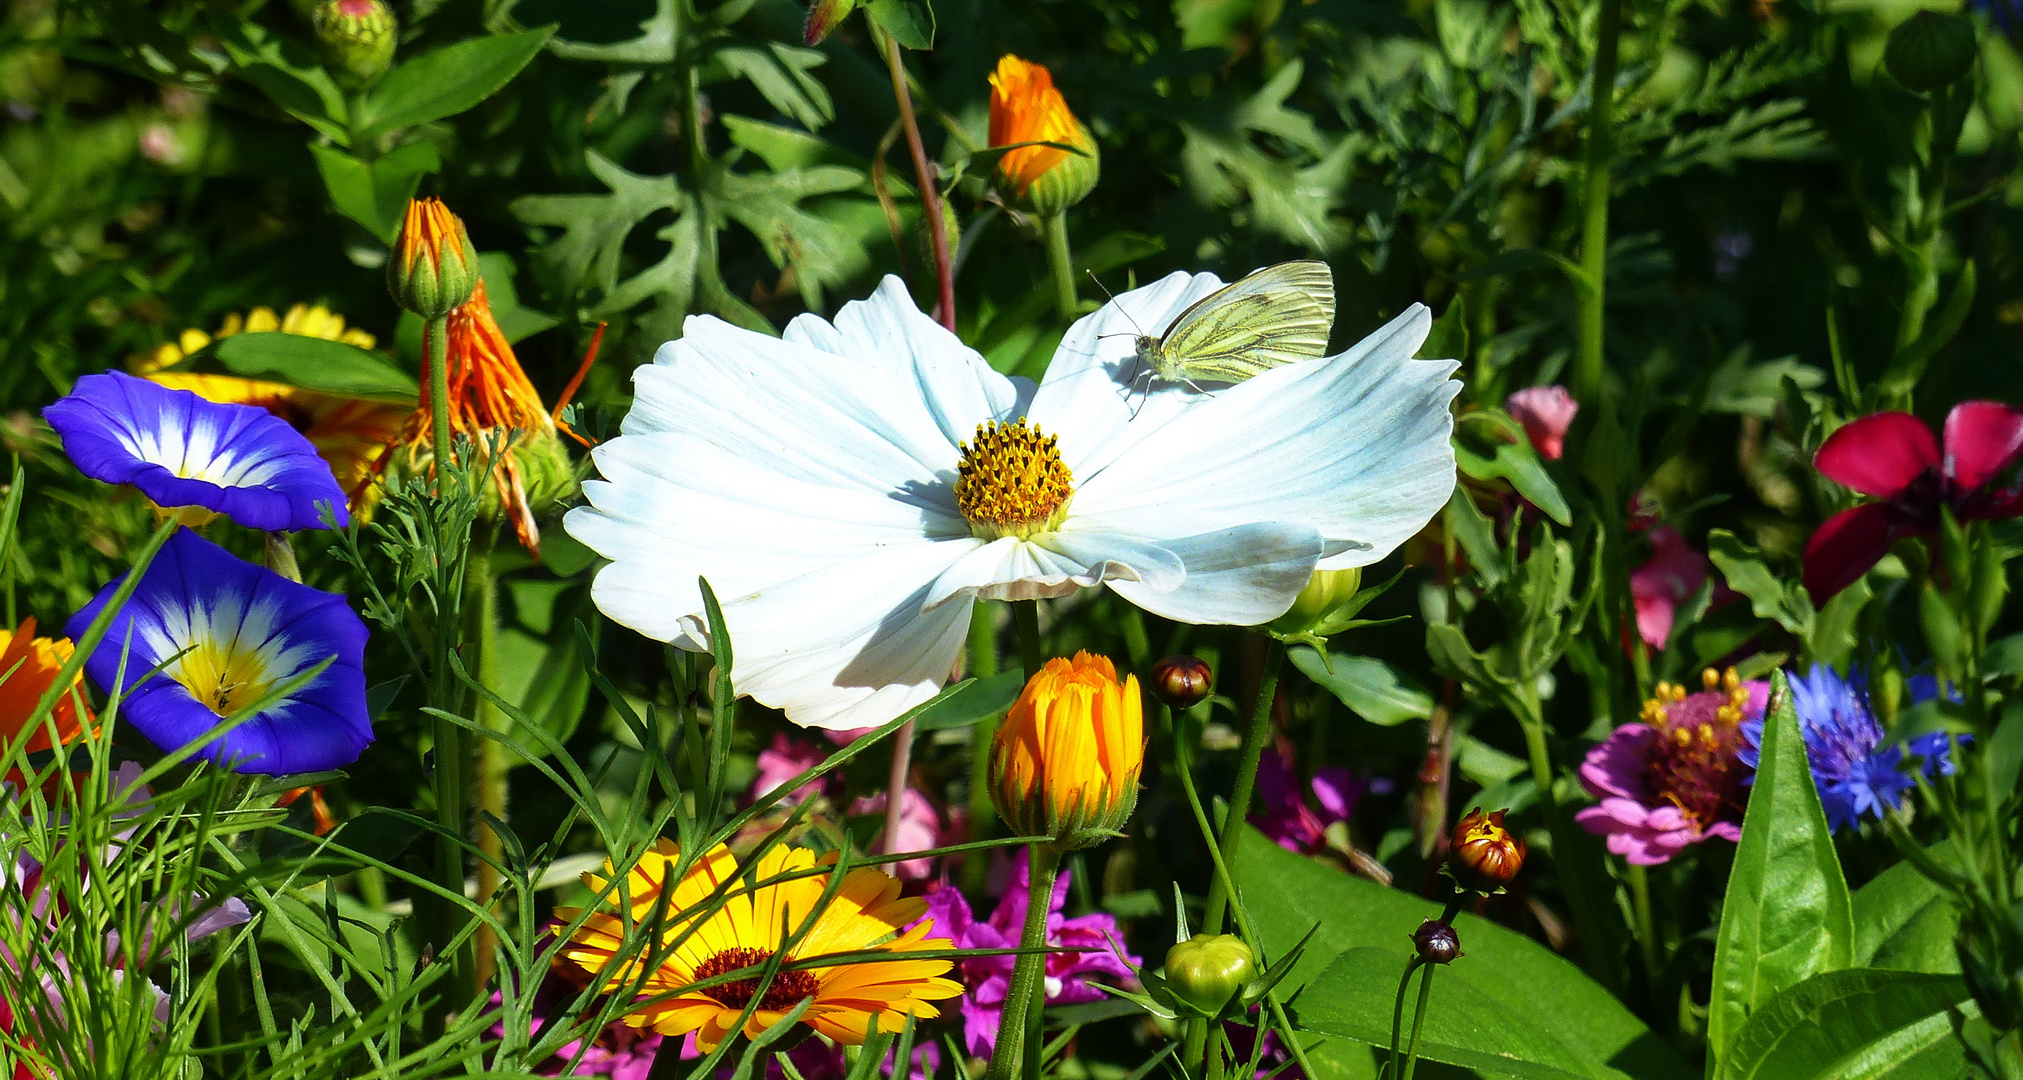
M963 890L941 884L927 892L927 918L935 920L935 934L947 934L955 949L1018 949L1020 930L1026 926L1026 851L1020 851L1012 872L1012 888L997 902L991 918L977 922L969 910ZM1046 1003L1076 1005L1101 1001L1090 979L1109 977L1129 981L1133 967L1145 961L1125 953L1123 932L1117 916L1084 914L1066 918L1060 908L1068 902L1068 872L1054 880L1054 902L1046 920L1046 942L1054 949L1078 949L1078 953L1052 953L1046 957ZM1012 987L1012 965L1016 957L969 957L961 963L963 991L963 1046L977 1058L989 1058L997 1046L997 1019L1003 1013L1005 991ZM1129 965L1127 965L1129 961Z

